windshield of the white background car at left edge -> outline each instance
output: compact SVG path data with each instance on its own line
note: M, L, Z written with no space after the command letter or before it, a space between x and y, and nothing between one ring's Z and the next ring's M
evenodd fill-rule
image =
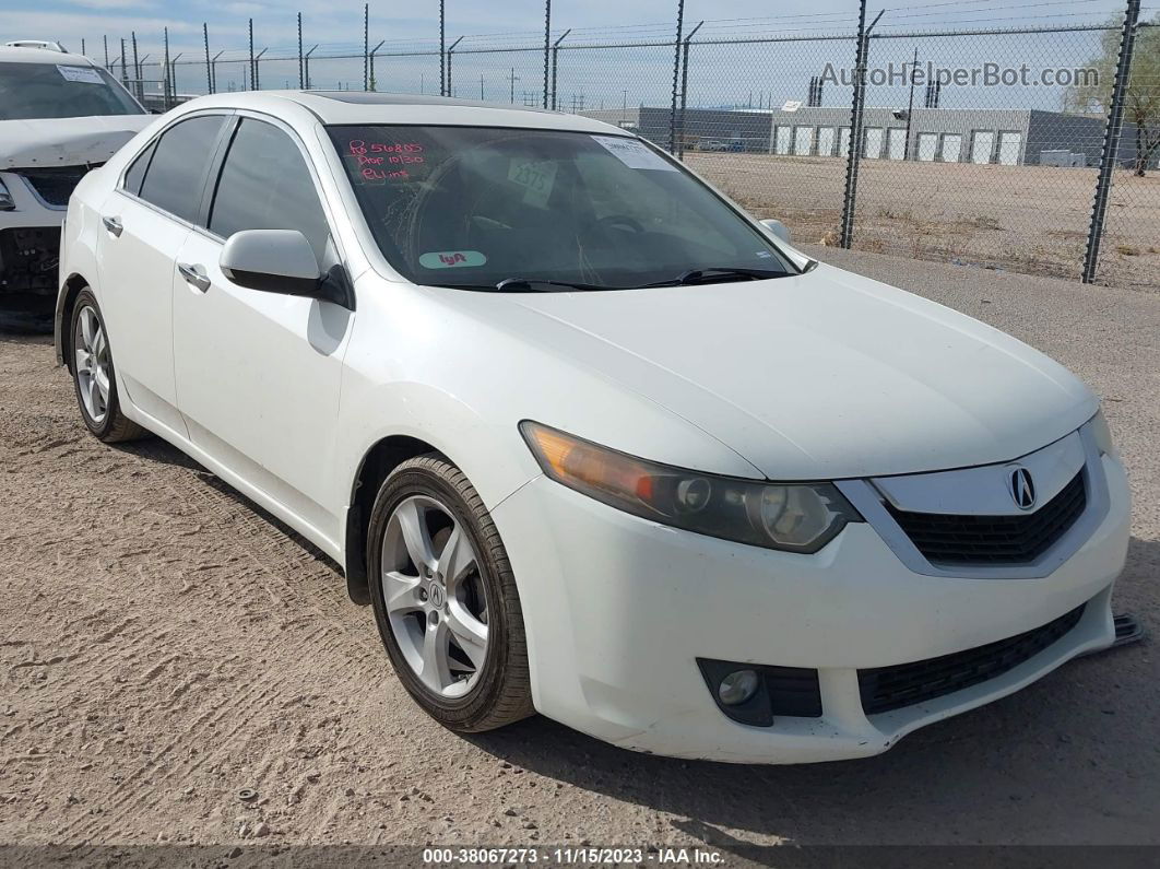
M95 66L0 63L0 121L144 114Z

